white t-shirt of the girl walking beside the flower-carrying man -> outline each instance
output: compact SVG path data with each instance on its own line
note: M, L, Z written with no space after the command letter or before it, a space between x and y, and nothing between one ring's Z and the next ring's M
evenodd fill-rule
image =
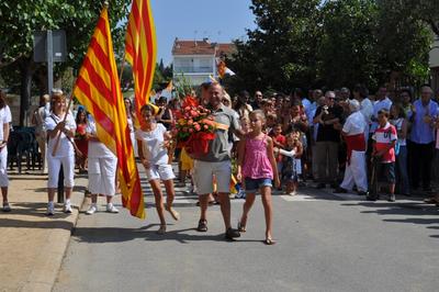
M157 123L156 128L150 132L140 128L136 131L136 139L142 141L145 159L151 165L168 164L168 149L164 146L166 132L166 127L160 123Z

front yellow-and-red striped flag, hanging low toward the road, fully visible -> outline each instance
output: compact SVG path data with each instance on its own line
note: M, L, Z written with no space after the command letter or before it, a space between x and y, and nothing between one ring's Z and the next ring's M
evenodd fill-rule
M117 157L123 206L133 216L144 218L144 196L117 77L106 7L102 9L91 37L74 94L93 115L99 141Z

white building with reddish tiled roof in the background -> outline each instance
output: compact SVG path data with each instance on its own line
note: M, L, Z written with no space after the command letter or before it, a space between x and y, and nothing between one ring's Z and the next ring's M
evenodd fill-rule
M217 77L216 63L219 57L230 55L234 44L176 38L172 47L173 80L188 79L192 86L200 86L210 76Z

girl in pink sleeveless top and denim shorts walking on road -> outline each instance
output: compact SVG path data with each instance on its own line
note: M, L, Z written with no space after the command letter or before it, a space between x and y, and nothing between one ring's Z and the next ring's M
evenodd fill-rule
M262 132L266 116L262 111L252 111L249 115L251 132L239 142L238 146L238 173L237 179L244 182L246 202L243 215L238 223L239 232L246 232L247 216L255 202L256 192L259 190L266 214L267 245L275 242L272 239L271 221L271 187L274 179L275 187L280 186L277 164L273 155L273 139Z

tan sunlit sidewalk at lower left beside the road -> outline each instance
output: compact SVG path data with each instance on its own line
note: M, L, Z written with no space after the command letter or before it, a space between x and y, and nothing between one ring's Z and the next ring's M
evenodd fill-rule
M56 204L45 216L47 176L10 172L12 212L0 212L0 291L50 291L83 202L87 176L76 176L72 214Z

